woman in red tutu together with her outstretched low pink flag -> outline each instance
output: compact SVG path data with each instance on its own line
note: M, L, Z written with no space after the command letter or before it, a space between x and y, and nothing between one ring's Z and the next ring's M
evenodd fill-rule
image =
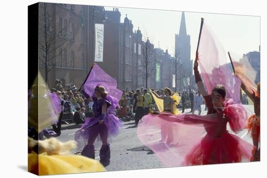
M246 127L246 110L241 104L235 104L233 99L225 102L226 89L223 85L216 85L211 95L207 94L198 71L197 60L198 55L194 64L195 78L208 108L207 115L149 114L142 118L138 126L138 138L153 150L166 166L253 160L255 147L227 130L227 123L235 133ZM151 128L156 130L164 123L172 123L175 127L173 145L155 144L159 136L150 132Z

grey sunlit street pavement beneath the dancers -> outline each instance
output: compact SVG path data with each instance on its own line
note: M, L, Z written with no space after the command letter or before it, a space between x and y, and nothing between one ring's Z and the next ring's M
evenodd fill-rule
M249 115L254 113L253 106L244 105L248 110ZM204 110L205 105L201 106L202 113L205 115L207 111ZM189 113L190 109L186 109L185 113ZM74 134L80 126L78 125L63 125L61 135L57 137L60 141L66 142L68 140L74 140ZM229 125L227 126L228 130ZM252 140L247 134L246 130L240 131L237 136L245 139L250 144ZM162 168L163 165L155 154L146 146L144 146L136 137L136 127L134 119L129 122L124 122L124 127L121 129L117 137L113 138L110 142L111 147L111 162L106 167L108 171L121 171L121 170L135 170L135 169L150 169L150 168ZM100 146L95 147L96 159L99 160ZM80 151L78 149L73 152Z

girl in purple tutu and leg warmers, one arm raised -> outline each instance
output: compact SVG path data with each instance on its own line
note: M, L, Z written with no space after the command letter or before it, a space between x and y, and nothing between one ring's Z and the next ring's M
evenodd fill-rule
M115 106L117 105L116 98L111 97L101 85L95 87L93 96L89 96L82 85L81 91L83 95L93 101L93 113L91 118L85 118L85 123L82 128L75 133L75 140L78 143L83 141L87 143L83 147L82 155L88 158L95 159L94 143L98 135L100 136L102 146L100 148L100 162L107 166L110 163L110 145L108 136L118 134L119 128L123 125L122 122L114 114Z

